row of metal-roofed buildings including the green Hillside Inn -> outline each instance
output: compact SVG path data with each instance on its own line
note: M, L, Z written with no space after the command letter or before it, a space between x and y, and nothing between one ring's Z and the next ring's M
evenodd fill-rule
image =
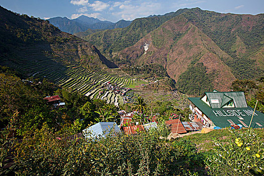
M264 128L264 114L248 107L243 92L206 92L202 97L189 98L189 115L191 122L181 122L180 117L171 114L165 121L167 128L173 134L188 133L202 130L203 128ZM121 116L120 125L115 122L100 122L83 130L85 137L105 136L111 129L115 132L123 131L125 134L137 134L150 128L157 128L156 117L145 117L146 124L134 122L134 116L138 112L126 113L124 110L118 112ZM89 135L88 135L89 134Z

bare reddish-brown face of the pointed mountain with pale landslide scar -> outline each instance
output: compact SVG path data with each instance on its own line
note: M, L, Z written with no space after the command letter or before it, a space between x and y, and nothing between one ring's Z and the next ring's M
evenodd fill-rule
M164 34L164 29L173 31L177 27L177 33L184 34L182 34L179 39L175 39L178 40L175 43L173 37L171 36L176 36L177 33L173 34L167 32ZM153 37L155 38L159 35L162 36L160 38L160 42L166 41L166 44L162 44L161 48L159 48L159 44L155 44L155 42L153 42ZM142 48L142 46L146 44L148 44L147 50ZM183 45L186 45L186 47L182 47ZM197 49L191 45L196 45L200 48ZM209 52L209 50L213 50L213 52ZM220 53L215 54L217 52ZM221 82L221 77L223 77L223 74L228 77L226 78L226 81L232 82L235 80L235 76L231 73L231 70L218 57L218 55L221 55L222 57L230 56L222 52L210 38L205 36L205 34L203 34L192 23L188 22L188 20L184 17L174 17L173 19L165 22L159 28L143 37L135 45L120 51L119 54L120 58L130 58L132 60L131 65L150 63L161 64L166 68L168 75L175 81L179 80L179 76L190 67L192 62L194 62L194 65L196 63L203 63L203 65L206 66L208 74L213 72L218 73L213 82L215 89L224 91L229 90L229 84ZM198 56L200 59L197 60ZM175 60L174 57L178 58ZM223 68L224 71L222 70Z

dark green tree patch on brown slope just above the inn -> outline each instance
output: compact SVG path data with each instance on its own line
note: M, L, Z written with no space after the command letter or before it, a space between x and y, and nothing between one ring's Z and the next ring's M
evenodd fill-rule
M208 74L203 63L190 65L188 69L179 76L178 90L188 94L201 96L204 92L213 90L214 75Z

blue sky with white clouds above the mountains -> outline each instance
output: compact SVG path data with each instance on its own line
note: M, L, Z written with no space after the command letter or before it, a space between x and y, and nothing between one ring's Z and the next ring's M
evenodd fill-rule
M264 0L1 0L0 6L19 14L48 19L81 15L102 21L134 20L149 15L163 15L183 8L220 13L264 13Z

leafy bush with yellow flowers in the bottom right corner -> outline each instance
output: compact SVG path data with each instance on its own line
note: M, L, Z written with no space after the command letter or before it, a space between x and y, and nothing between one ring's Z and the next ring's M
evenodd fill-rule
M215 154L206 158L211 175L255 175L264 173L264 145L252 130L232 131L228 142L215 139Z

